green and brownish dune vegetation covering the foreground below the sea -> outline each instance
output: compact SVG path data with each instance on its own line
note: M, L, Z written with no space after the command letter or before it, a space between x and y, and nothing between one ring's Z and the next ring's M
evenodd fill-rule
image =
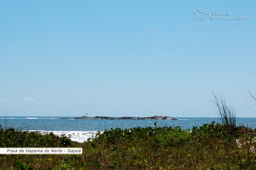
M0 155L0 169L256 169L256 131L204 124L111 129L89 142L0 129L1 147L82 147L82 155Z

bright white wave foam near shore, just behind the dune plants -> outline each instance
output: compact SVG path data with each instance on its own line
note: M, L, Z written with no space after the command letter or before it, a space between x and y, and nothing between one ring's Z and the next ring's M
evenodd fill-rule
M95 138L97 131L44 131L44 130L30 130L33 132L37 132L39 134L49 134L53 133L54 135L61 136L61 134L65 134L66 137L69 137L71 141L75 142L87 142L88 138Z

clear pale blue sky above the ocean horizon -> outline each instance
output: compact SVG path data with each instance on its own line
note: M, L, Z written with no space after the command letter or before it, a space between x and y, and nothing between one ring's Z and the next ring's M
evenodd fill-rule
M0 114L217 117L214 91L255 117L245 88L256 94L255 6L1 1ZM200 8L249 19L200 20Z

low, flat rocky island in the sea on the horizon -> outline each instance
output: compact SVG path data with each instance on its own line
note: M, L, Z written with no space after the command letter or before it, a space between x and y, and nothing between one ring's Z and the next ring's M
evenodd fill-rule
M74 119L109 119L109 120L178 120L176 118L168 117L168 116L151 116L151 117L144 117L144 118L138 118L138 117L120 117L120 118L113 118L113 117L107 117L107 116L95 116L95 117L87 117L87 116L82 116L79 118L74 118Z

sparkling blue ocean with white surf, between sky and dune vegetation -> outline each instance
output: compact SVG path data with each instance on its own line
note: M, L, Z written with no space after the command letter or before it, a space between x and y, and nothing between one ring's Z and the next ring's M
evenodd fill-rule
M60 119L67 118L67 119ZM49 117L49 116L0 116L2 128L13 127L17 130L36 131L41 134L53 132L56 135L66 134L72 141L84 142L94 138L98 131L115 129L129 129L132 127L157 126L192 129L193 126L202 126L213 121L220 122L219 118L175 117L178 120L93 120L74 119L75 117ZM256 129L256 118L237 118L237 125Z

